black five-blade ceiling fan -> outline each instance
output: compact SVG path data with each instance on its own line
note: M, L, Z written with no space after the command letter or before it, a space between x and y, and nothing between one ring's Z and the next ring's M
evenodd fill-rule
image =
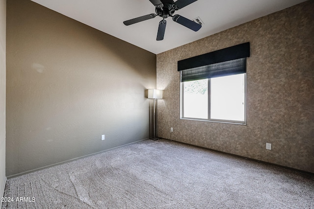
M172 17L172 20L176 23L182 24L183 26L190 28L191 30L198 31L202 25L195 23L187 18L184 18L181 15L173 15L176 10L182 9L184 6L189 5L197 0L150 0L156 7L156 14L144 15L138 18L134 18L128 21L124 21L125 25L130 25L134 23L139 23L146 21L156 16L162 18L162 21L159 22L158 32L157 32L157 41L163 40L167 21L165 20L168 17Z

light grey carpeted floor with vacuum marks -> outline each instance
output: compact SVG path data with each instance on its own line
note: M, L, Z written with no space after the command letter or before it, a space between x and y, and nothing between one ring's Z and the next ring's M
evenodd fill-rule
M9 179L4 197L2 209L313 209L314 176L145 140Z

